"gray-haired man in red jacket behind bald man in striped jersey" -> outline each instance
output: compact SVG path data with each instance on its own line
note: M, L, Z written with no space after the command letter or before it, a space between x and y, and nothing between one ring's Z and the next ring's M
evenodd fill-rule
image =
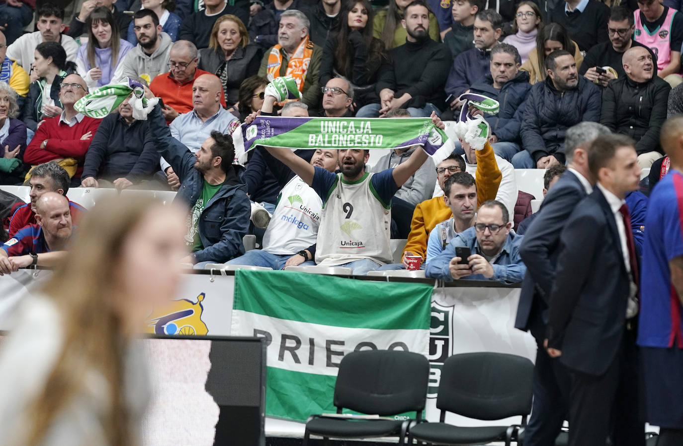
M10 238L14 237L14 234L18 233L21 228L29 224L37 224L36 203L43 194L46 192L57 192L66 196L66 192L69 191L69 183L71 182L69 174L56 162L39 164L31 170L30 175L29 185L31 186L31 192L29 192L29 196L31 197L31 202L16 209L14 215L12 215L8 231ZM85 212L85 208L73 201L69 201L69 209L74 224L78 224L81 215Z

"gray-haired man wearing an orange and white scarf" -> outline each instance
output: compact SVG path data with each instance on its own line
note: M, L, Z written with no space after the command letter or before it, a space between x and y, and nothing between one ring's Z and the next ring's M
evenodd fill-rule
M277 30L277 45L266 51L258 75L268 78L268 82L280 76L291 76L301 91L301 101L309 107L318 107L322 47L309 39L310 25L310 20L301 11L283 12Z

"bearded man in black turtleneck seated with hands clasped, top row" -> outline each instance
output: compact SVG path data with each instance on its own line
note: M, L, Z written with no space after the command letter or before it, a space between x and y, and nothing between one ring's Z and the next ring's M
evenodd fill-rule
M361 107L357 117L384 117L396 108L406 108L412 117L441 113L451 54L441 42L430 38L429 17L430 9L423 0L406 6L401 24L408 36L404 45L389 51L380 68L375 87L380 103Z

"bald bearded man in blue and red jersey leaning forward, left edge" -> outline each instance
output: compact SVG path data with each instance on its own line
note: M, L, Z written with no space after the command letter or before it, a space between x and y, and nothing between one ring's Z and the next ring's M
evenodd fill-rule
M36 222L0 246L0 276L29 265L53 266L64 258L73 234L69 200L57 192L42 194L36 202Z

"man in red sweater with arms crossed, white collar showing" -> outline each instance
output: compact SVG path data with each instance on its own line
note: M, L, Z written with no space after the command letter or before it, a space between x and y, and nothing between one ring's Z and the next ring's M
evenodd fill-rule
M78 74L70 74L61 81L59 100L64 111L39 124L26 147L24 162L35 165L61 160L59 164L66 168L72 181L76 181L76 185L81 183L85 152L100 125L100 119L87 117L74 108L86 94L87 86Z

